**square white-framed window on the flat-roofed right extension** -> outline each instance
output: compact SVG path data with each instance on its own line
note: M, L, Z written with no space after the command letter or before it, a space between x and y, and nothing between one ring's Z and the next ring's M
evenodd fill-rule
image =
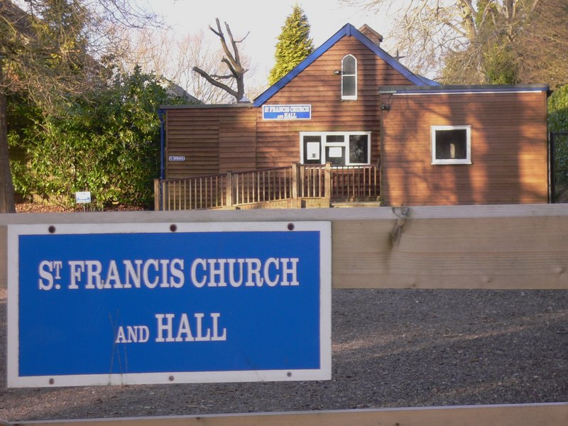
M471 126L431 126L432 164L471 164Z

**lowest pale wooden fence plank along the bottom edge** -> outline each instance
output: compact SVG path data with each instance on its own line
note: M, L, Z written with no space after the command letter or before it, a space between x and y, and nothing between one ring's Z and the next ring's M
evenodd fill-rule
M568 403L13 422L14 426L564 426Z

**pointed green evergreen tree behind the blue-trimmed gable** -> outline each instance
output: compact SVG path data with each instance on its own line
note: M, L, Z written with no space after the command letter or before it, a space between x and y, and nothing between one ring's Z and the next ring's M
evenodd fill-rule
M310 23L305 12L296 4L286 18L282 33L278 35L274 54L276 62L268 76L268 83L272 85L280 80L313 51Z

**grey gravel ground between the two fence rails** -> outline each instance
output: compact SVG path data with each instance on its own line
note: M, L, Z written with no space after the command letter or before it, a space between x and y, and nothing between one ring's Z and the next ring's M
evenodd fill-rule
M568 401L565 290L334 290L332 380L6 388L0 419L261 413Z

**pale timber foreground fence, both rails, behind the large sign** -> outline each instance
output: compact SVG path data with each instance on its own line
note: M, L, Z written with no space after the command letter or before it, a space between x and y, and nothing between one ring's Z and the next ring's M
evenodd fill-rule
M568 204L0 215L9 224L332 223L333 288L568 289ZM568 403L14 422L14 425L568 425Z

